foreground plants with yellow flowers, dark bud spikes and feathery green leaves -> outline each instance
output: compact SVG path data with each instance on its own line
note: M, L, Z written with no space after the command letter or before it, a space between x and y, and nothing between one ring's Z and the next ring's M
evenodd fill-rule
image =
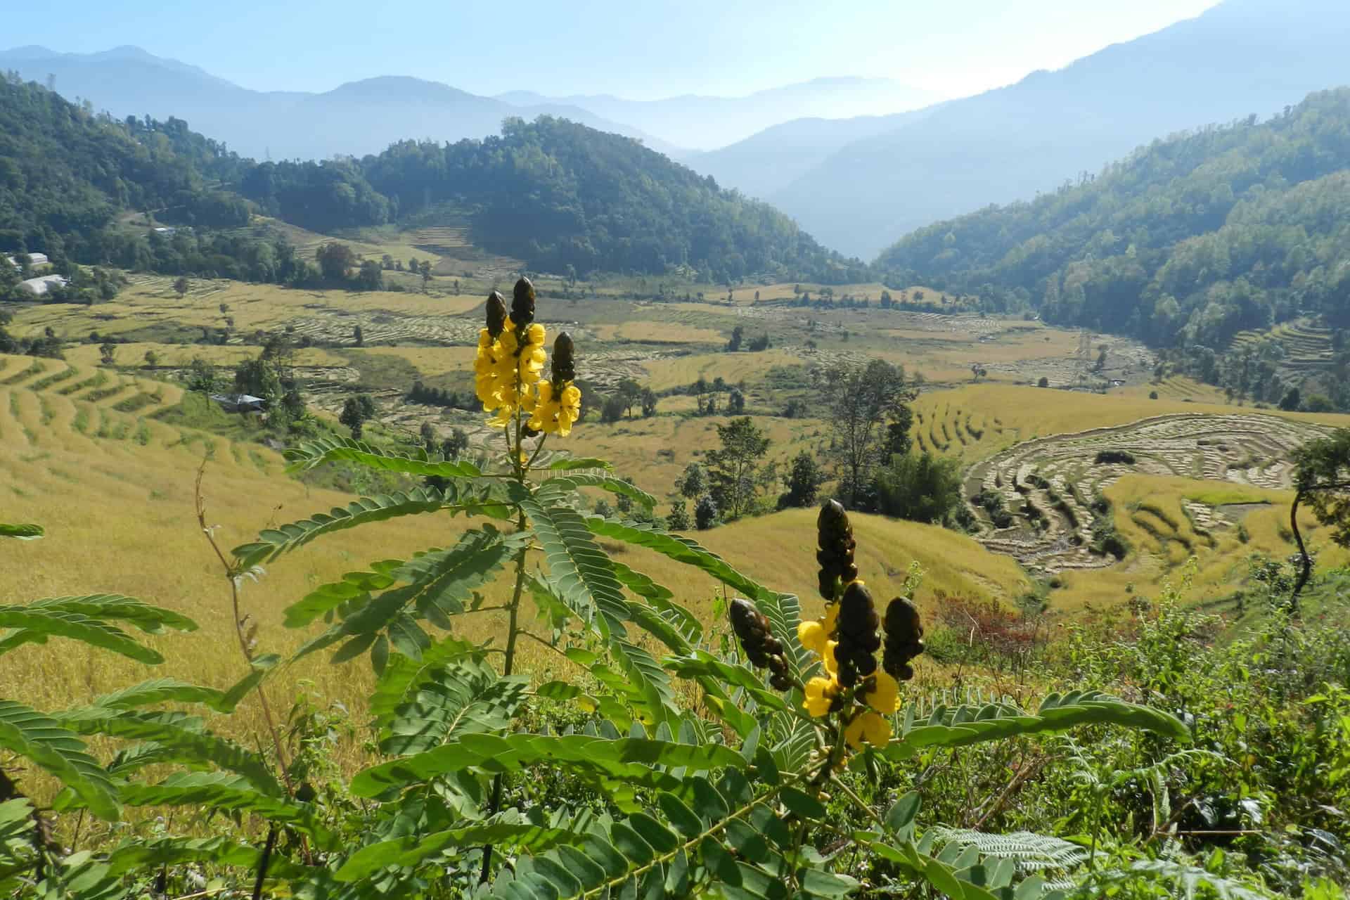
M655 501L602 460L545 449L579 421L578 349L559 335L549 360L535 313L526 279L509 310L495 291L485 308L474 374L504 433L497 464L339 437L289 453L300 470L342 460L435 487L362 498L220 553L243 650L238 685L159 679L53 715L0 702L0 746L65 784L54 803L62 814L111 822L143 806L225 814L242 827L97 850L78 849L77 835L54 847L27 800L0 800L0 889L40 877L78 885L40 896L109 899L143 896L153 880L155 896L786 900L932 889L1026 900L1046 895L1045 884L1015 854L1000 855L1003 845L967 849L936 827L919 831L918 793L890 796L882 785L895 781L878 779L864 799L850 780L940 748L1085 723L1187 737L1168 714L1092 691L1050 695L1034 711L906 696L900 685L923 650L917 607L906 596L878 607L834 501L817 529L825 610L806 621L795 595L687 537L586 513L582 488L648 511ZM239 613L240 591L266 590L265 567L332 533L409 515L424 517L432 546L316 586L285 610L289 627L315 629L292 660L324 652L336 665L373 668L369 765L329 773L316 791L312 754L288 750L286 738L254 749L185 711L266 702L284 667L255 652L266 636L246 630ZM614 559L601 540L698 578L659 584L633 568L649 556ZM680 603L709 579L737 595L726 609L738 648ZM482 615L495 617L493 638L467 640L462 622ZM0 653L65 637L159 661L119 619L193 626L126 598L63 598L0 607L9 629ZM552 679L522 671L525 642L551 660ZM124 746L96 758L81 735Z

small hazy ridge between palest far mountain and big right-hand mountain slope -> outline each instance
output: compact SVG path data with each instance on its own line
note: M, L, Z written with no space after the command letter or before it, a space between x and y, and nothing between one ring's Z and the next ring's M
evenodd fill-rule
M849 143L894 131L934 109L837 120L794 119L729 147L688 154L682 162L713 175L724 188L736 188L751 197L771 197Z

